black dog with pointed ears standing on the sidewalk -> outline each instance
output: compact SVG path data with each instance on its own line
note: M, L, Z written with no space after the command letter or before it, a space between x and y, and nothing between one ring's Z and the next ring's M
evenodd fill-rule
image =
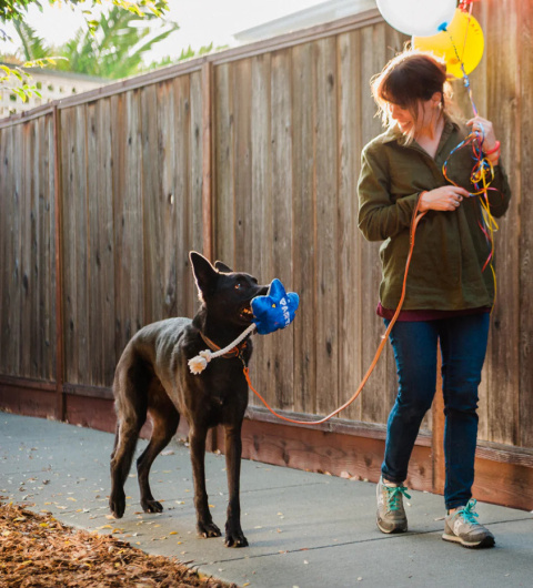
M197 529L203 537L220 537L209 511L205 491L205 436L210 427L224 425L229 504L225 545L248 545L241 529L239 479L241 427L248 406L248 384L243 375L252 354L250 339L214 358L199 375L190 373L188 361L208 347L223 348L234 341L252 320L250 303L264 295L249 274L232 272L211 263L199 253L190 260L202 306L190 318L169 318L141 328L127 345L117 366L113 392L118 415L117 437L111 456L111 497L115 517L124 514L124 481L128 477L139 432L152 420L152 436L137 460L141 506L145 513L161 513L148 480L150 467L174 435L180 416L189 423Z

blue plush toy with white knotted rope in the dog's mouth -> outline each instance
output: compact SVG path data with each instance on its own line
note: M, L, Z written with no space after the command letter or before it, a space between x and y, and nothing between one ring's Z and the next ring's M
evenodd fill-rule
M211 359L224 355L254 331L260 335L268 335L279 328L285 328L294 320L299 303L300 298L295 292L286 293L283 284L278 278L272 280L269 292L264 296L255 296L252 300L252 324L223 349L217 352L205 349L189 359L189 369L192 374L201 374Z

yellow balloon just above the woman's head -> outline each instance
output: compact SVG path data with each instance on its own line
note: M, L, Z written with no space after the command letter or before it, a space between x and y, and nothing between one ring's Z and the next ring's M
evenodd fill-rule
M473 71L483 57L485 41L480 23L469 12L459 8L447 27L433 37L413 37L412 45L420 51L431 51L446 62L446 71L455 78Z

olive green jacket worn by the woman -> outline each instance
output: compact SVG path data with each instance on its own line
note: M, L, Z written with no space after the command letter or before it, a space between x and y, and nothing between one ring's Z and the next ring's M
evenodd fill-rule
M359 227L380 247L383 278L381 304L394 310L400 302L410 237L409 230L421 192L447 184L442 165L469 129L446 119L435 159L416 142L403 144L402 135L386 131L362 152L359 179ZM457 150L447 162L447 176L474 192L470 175L475 161L472 148ZM489 191L491 214L502 216L511 191L501 165ZM491 254L482 229L480 196L463 199L453 212L429 211L419 223L408 277L404 310L457 311L492 306L494 277Z

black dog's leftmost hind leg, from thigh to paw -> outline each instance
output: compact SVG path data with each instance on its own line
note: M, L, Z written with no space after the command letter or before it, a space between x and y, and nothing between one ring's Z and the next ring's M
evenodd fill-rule
M113 388L118 425L111 455L111 513L121 518L125 510L124 483L130 472L139 433L147 419L148 375L134 363L118 368Z

